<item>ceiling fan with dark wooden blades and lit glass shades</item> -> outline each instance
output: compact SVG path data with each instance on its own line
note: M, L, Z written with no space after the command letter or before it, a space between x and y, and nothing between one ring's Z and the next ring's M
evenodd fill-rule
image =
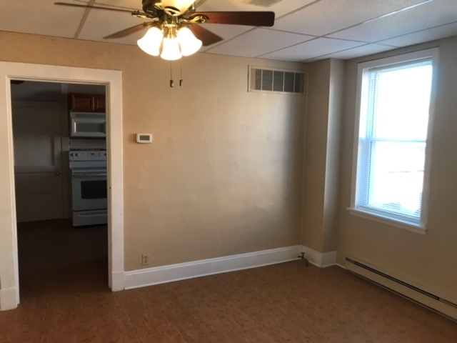
M130 13L141 19L151 19L144 23L121 30L104 39L129 36L142 29L148 29L138 40L139 47L153 56L176 60L189 56L201 46L209 46L223 39L198 24L232 24L248 26L273 26L272 11L196 11L196 0L142 0L142 11L99 4L98 6L56 2L55 5L73 6L86 9L100 9Z

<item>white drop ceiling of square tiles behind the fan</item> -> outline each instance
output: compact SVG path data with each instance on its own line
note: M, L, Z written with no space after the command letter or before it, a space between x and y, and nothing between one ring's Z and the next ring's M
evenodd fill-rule
M141 0L66 2L141 9ZM276 14L271 28L205 24L224 41L201 53L303 62L351 59L457 35L457 0L282 0L268 7L246 2L197 1L201 11ZM140 23L127 13L54 6L54 0L0 1L0 31L106 41L102 37ZM136 45L143 35L109 42Z

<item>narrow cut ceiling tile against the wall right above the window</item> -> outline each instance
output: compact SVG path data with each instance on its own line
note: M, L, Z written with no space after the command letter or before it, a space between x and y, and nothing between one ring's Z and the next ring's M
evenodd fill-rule
M424 41L434 41L435 39L446 38L457 35L457 22L453 24L433 27L423 31L414 32L413 34L404 34L392 39L386 39L379 43L394 45L394 46L408 46L413 44L423 43Z

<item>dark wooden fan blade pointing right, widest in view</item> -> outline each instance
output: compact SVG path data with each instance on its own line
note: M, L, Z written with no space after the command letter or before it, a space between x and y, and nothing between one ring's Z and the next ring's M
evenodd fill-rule
M227 12L195 12L190 19L196 16L207 16L208 24L232 24L249 26L273 26L274 12L271 11L227 11Z

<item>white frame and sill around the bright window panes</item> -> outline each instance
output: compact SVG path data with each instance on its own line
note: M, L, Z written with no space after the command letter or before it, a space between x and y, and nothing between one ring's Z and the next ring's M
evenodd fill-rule
M421 204L421 220L418 224L402 220L398 217L390 217L387 214L379 213L376 211L369 211L357 207L358 204L358 176L361 174L359 168L361 167L359 161L359 136L360 136L360 119L361 119L361 104L362 104L362 86L363 79L368 74L369 69L388 67L395 64L413 63L422 59L431 59L433 74L431 84L431 96L428 117L428 129L426 138L426 157L423 174L423 191L422 191L422 204ZM421 51L411 52L409 54L402 54L398 56L391 56L384 59L376 59L373 61L366 61L358 64L357 72L357 93L356 93L356 120L354 130L354 144L353 144L353 168L352 168L352 189L351 189L351 206L348 208L351 214L366 219L371 219L376 222L382 222L394 227L400 227L411 232L419 234L426 234L427 212L428 212L428 193L430 189L430 166L431 166L431 134L433 131L433 117L436 103L436 80L438 76L438 48L426 49Z

